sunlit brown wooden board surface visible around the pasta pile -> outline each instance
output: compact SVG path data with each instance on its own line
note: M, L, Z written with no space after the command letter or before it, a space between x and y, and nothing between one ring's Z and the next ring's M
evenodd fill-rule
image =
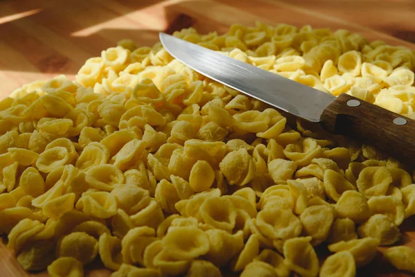
M152 45L159 31L194 26L224 32L230 24L311 24L347 28L370 40L415 50L414 0L0 0L0 98L22 84L65 74L73 79L89 57L120 39ZM415 249L415 220L400 244ZM380 249L382 250L382 249ZM86 276L109 276L99 264ZM0 242L0 277L30 276ZM45 273L33 276L47 276ZM378 253L358 276L411 276Z

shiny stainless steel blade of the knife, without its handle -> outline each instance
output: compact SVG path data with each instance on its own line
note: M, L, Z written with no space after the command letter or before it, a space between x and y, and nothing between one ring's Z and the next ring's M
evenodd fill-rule
M160 41L170 55L194 71L311 122L320 122L322 111L335 100L328 93L183 39L160 33Z

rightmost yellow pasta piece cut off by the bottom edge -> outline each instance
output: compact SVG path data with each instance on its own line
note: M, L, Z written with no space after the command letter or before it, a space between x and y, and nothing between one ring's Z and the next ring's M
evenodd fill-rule
M320 276L353 277L356 276L356 265L349 251L340 251L324 260L320 268Z

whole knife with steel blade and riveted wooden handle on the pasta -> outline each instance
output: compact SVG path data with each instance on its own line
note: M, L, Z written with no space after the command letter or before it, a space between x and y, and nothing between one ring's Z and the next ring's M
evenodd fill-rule
M415 120L342 93L337 98L183 39L160 33L165 50L206 77L273 107L320 123L415 166Z

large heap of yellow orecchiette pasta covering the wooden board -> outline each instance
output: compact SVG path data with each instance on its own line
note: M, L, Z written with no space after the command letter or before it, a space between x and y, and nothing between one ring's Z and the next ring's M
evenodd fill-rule
M338 96L414 117L414 52L356 33L286 24L174 33ZM263 102L129 39L75 80L0 102L0 233L29 271L83 276L355 276L415 214L414 165L289 126ZM315 247L327 247L328 258Z

